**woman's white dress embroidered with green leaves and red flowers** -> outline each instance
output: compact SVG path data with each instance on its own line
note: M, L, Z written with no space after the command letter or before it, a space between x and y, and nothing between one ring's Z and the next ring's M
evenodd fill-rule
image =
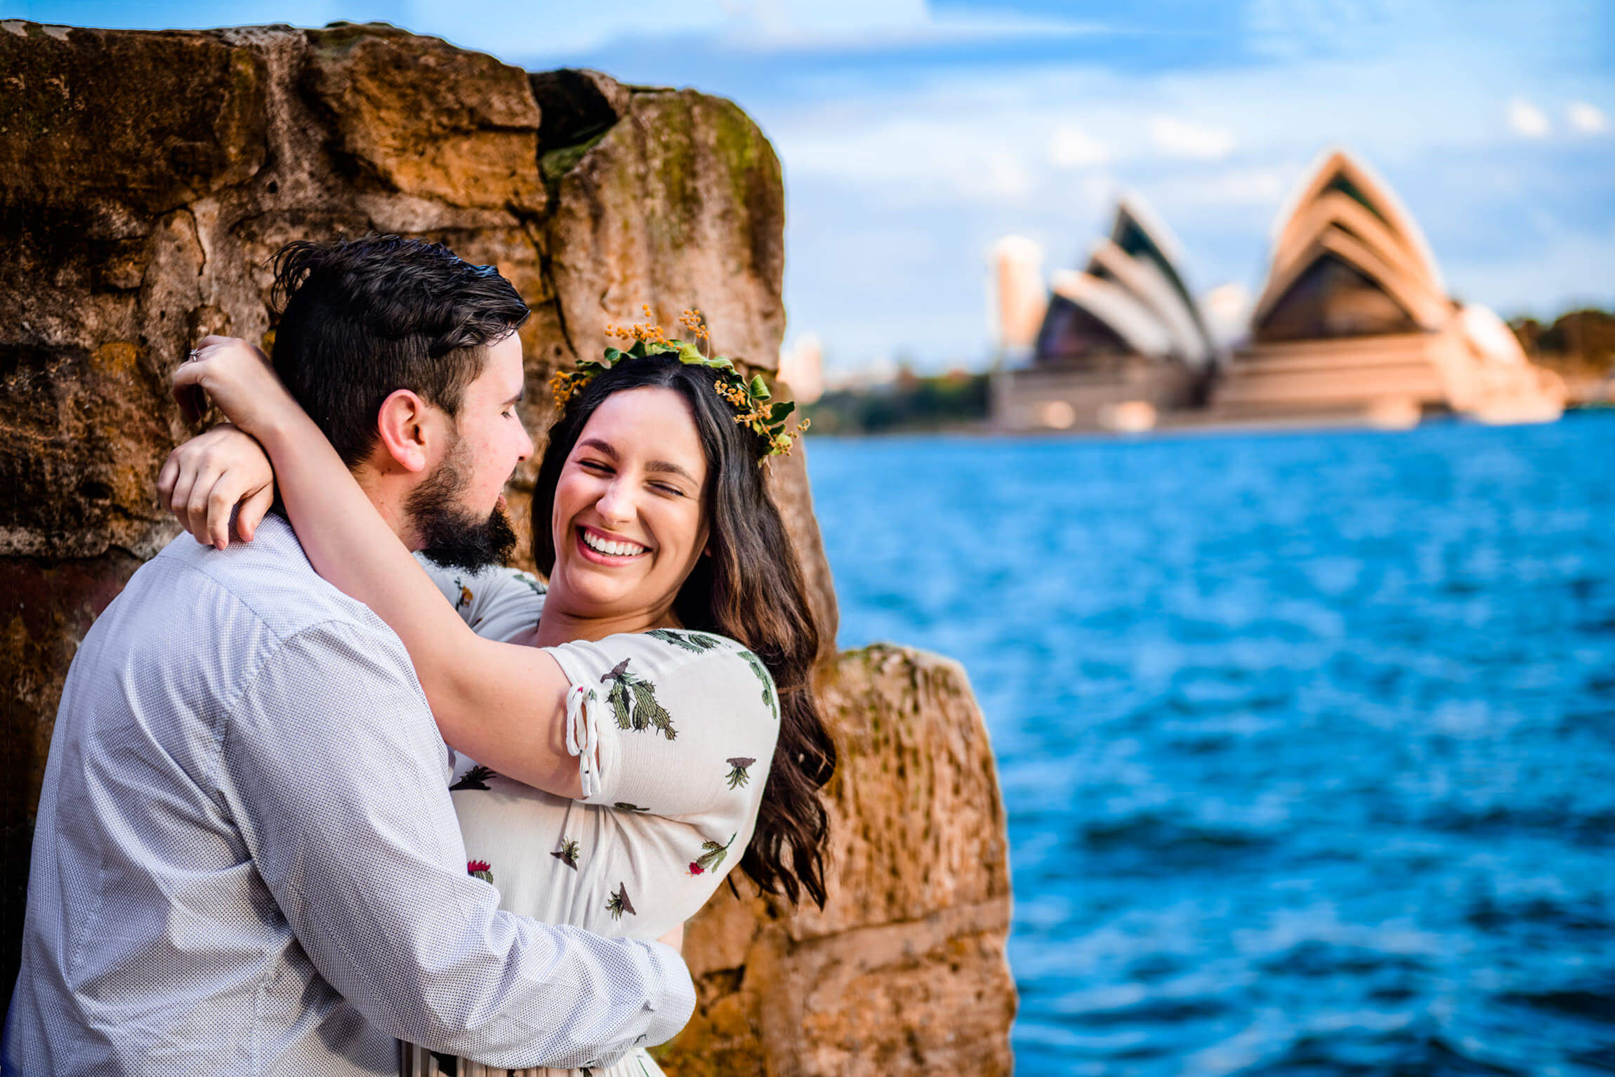
M544 588L528 573L422 565L480 636L522 639L538 623ZM467 870L499 890L501 909L596 935L659 938L706 904L751 841L780 728L774 680L733 639L682 628L546 651L572 683L568 749L588 757L594 744L598 772L573 801L460 756L451 790ZM493 1069L405 1045L402 1072L568 1071ZM588 1072L662 1071L636 1050Z

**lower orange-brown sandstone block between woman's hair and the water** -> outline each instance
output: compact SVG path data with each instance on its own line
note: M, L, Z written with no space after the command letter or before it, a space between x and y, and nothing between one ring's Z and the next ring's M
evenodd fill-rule
M685 945L696 1017L664 1064L683 1077L1008 1074L1005 814L964 670L848 651L824 701L841 751L825 790L830 899L707 903Z

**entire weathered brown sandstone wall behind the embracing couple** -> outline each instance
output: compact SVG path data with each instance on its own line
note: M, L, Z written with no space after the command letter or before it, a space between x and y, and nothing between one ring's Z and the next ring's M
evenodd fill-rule
M205 333L268 339L265 262L281 244L396 231L496 263L533 307L522 337L535 434L551 371L593 354L604 325L640 304L664 325L701 308L717 346L757 368L775 365L785 312L780 163L720 98L528 74L384 24L134 32L13 19L0 23L0 87L8 998L61 680L94 617L176 533L153 492L187 434L166 375ZM1006 1069L1003 814L969 689L927 659L835 660L803 455L772 481L825 625L848 759L833 788L837 899L822 916L761 901L704 914L690 946L704 1009L673 1056L774 1072L877 1058L882 1072L919 1059ZM530 483L531 471L517 480L518 520ZM912 796L932 804L958 790L966 814L904 815L904 778L921 778ZM956 983L937 987L946 969ZM780 977L788 987L770 990ZM854 1009L843 991L883 1001ZM985 1003L954 1012L971 991ZM950 1030L951 1046L935 1038Z

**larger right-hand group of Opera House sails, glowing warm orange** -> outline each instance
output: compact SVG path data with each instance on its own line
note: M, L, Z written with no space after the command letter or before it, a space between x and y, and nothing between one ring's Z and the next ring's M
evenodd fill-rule
M1248 344L1218 379L1213 407L1235 420L1410 425L1428 412L1554 418L1563 399L1558 376L1533 365L1495 313L1449 299L1418 223L1336 150L1279 215Z

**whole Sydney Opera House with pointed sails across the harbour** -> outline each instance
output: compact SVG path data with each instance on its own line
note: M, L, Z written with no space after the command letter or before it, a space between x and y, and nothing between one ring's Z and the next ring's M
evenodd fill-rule
M1405 426L1431 413L1542 421L1563 410L1558 376L1533 365L1495 313L1447 295L1418 223L1344 152L1328 153L1279 215L1266 281L1232 339L1208 329L1176 241L1137 199L1121 202L1082 271L1055 274L1040 318L1027 313L1013 247L998 273L1011 362L995 376L993 417L1009 430L1172 418Z

